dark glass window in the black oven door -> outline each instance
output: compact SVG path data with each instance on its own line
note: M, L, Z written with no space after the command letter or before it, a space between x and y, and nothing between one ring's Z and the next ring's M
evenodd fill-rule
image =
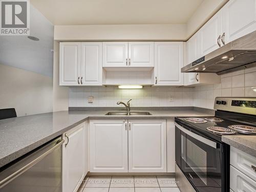
M181 157L188 164L188 168L193 169L207 185L207 153L183 135L181 135Z

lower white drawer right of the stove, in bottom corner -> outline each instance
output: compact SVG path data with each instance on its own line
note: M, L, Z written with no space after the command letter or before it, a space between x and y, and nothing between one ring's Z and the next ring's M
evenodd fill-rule
M230 165L230 188L234 192L255 192L256 181L244 175L238 169Z

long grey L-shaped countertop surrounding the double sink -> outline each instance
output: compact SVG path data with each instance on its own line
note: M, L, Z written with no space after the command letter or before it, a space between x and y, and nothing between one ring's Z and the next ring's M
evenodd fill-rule
M0 120L0 167L90 119L168 119L211 116L205 110L157 110L150 116L106 116L108 111L60 111Z

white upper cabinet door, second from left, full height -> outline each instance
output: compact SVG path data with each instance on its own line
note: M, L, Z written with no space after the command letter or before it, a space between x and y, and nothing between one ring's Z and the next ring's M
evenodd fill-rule
M81 43L81 84L102 85L102 42Z

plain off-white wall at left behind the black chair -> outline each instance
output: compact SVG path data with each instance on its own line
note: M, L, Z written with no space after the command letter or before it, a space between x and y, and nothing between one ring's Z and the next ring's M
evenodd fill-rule
M0 108L15 108L17 116L52 111L53 79L0 65Z

